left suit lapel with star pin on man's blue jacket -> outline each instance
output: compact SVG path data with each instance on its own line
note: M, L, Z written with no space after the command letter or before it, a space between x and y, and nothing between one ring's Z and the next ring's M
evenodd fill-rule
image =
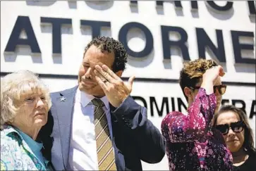
M56 97L56 111L59 120L59 132L61 137L61 151L65 167L68 163L68 153L71 141L71 127L73 120L73 107L75 92L78 87L71 91L63 91Z

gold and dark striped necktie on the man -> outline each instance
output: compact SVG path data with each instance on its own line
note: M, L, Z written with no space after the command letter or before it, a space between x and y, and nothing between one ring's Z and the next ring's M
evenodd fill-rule
M116 170L109 126L102 108L104 103L100 99L93 99L92 103L95 105L95 137L99 170Z

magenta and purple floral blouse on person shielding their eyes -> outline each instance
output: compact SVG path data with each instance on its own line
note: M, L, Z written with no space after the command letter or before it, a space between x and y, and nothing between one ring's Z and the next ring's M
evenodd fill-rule
M188 114L171 112L161 122L170 170L233 170L231 152L210 125L216 96L200 88Z

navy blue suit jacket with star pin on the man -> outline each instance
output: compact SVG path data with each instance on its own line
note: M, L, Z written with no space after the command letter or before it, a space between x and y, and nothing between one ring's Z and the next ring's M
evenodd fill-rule
M51 94L47 125L39 132L44 154L56 170L66 170L71 139L75 92L78 87ZM61 100L65 99L65 100ZM121 106L111 106L113 145L118 170L142 170L140 160L159 163L165 154L165 139L147 120L147 109L129 96Z

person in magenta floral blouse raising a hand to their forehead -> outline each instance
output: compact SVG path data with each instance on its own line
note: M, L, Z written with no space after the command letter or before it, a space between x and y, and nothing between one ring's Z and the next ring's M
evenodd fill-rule
M221 84L223 75L223 68L212 60L197 59L184 64L180 85L188 101L187 113L173 111L161 123L170 170L233 169L222 135L216 134L210 125L226 91Z

